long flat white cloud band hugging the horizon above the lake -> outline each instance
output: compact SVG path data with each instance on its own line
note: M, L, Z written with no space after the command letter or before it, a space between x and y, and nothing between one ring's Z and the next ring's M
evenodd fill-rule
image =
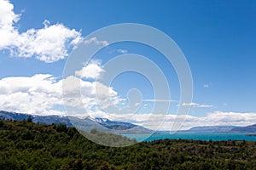
M153 116L152 118L149 118ZM108 117L113 118L116 116ZM125 116L124 116L125 117ZM165 117L165 121L164 121ZM182 130L189 129L191 127L201 127L201 126L248 126L253 125L256 122L256 113L248 112L223 112L223 111L214 111L207 114L207 116L198 117L198 116L176 116L172 115L162 115L162 114L135 114L131 117L125 118L116 118L117 121L132 122L143 127L148 127L151 129L158 130L177 130L176 127L172 129L173 122L177 119L185 121L183 122ZM182 123L182 122L181 122ZM160 126L160 127L159 127Z

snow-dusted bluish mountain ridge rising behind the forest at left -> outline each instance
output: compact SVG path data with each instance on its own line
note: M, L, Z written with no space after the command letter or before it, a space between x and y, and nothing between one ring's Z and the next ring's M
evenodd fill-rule
M0 111L0 118L11 119L21 121L27 119L29 116L32 117L32 122L40 124L52 124L52 123L64 123L69 127L72 127L73 124L85 132L90 132L91 129L96 128L102 132L111 132L111 133L153 133L152 130L137 126L130 122L116 122L111 121L106 118L101 117L85 117L84 119L74 117L74 116L38 116L38 115L29 115L23 113L15 113L9 111Z

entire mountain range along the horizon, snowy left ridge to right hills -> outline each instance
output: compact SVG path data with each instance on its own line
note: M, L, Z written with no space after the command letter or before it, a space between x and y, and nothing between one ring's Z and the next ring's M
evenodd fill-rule
M0 118L21 121L32 117L32 122L42 124L64 123L67 126L76 125L79 130L90 132L96 128L102 132L118 133L118 134L149 134L154 133L153 130L146 127L138 126L130 122L116 122L106 118L90 116L79 118L75 116L38 116L23 113L15 113L9 111L0 111ZM155 133L169 133L168 131L157 131ZM180 130L178 133L256 133L256 124L246 127L236 126L201 126L191 127L189 130Z

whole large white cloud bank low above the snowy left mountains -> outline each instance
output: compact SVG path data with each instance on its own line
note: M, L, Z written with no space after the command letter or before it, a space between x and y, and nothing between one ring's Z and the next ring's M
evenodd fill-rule
M63 81L66 81L64 94ZM96 86L100 90L96 90ZM58 80L52 75L38 74L32 77L0 79L0 111L64 115L62 94L67 106L86 108L90 112L100 111L101 108L108 108L109 105L117 105L122 101L113 88L99 82L86 82L73 76ZM62 107L62 111L55 109L56 106Z

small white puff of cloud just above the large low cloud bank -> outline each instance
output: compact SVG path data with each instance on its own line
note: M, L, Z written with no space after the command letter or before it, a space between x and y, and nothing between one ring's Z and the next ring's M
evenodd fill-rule
M76 71L75 75L81 78L98 79L103 72L105 71L102 69L101 62L99 60L93 60L80 71Z

